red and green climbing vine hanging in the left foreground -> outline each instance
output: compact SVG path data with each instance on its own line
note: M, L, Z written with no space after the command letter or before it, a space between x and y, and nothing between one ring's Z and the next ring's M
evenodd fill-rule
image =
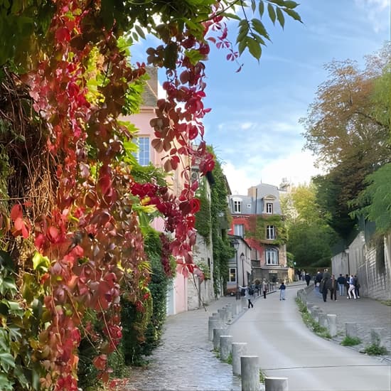
M157 215L172 237L160 237L165 274L172 272L171 255L180 272L195 271L191 250L200 202L190 168L196 162L205 175L215 165L203 140L209 111L203 106L203 61L210 43L236 61L246 48L259 58L262 36L269 39L259 19L245 16L236 52L225 25L226 17L236 18L227 14L233 5L0 5L0 36L9 37L0 48L0 154L6 155L0 166L1 390L76 391L82 341L92 346L97 377L107 382L108 357L122 340L122 302L137 315L151 311L144 227ZM255 12L255 1L251 5ZM300 20L296 5L269 0L269 18L281 26L283 12ZM139 106L146 70L144 63L129 64L128 48L144 38L143 28L162 43L149 48L146 59L165 68L167 77L167 97L157 102L151 120L152 145L165 152L166 171L181 171L178 197L154 176L136 177L136 129L119 120ZM225 240L214 241L220 243L216 259L223 278Z

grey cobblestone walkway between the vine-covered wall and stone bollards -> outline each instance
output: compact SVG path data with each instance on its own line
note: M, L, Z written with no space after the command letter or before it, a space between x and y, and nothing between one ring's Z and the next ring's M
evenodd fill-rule
M126 391L239 391L240 378L232 365L221 362L208 341L208 317L232 297L214 301L205 309L170 316L163 343L147 368L132 368Z

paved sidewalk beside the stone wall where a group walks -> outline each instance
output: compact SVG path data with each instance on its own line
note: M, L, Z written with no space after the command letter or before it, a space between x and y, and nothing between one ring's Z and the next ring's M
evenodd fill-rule
M303 288L306 284L303 284ZM312 288L311 288L312 286ZM388 354L382 356L384 360L391 362L391 306L381 304L380 301L361 296L360 299L347 299L346 295L337 294L337 301L330 300L330 294L327 296L326 303L318 288L310 284L307 292L307 301L316 304L326 314L336 314L337 316L337 336L333 341L341 343L346 335L345 323L357 323L358 337L362 343L356 346L350 346L354 350L363 350L371 342L371 328L383 328L385 333L385 345Z

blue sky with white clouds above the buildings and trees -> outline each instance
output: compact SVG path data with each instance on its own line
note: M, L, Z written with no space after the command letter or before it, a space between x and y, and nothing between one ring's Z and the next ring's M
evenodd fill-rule
M235 73L237 64L215 48L205 63L205 107L212 109L204 119L205 140L222 161L232 194L247 194L261 181L308 183L319 173L314 156L302 151L299 118L327 79L323 65L347 58L363 65L365 55L390 40L390 0L296 1L304 23L286 18L283 31L265 19L272 43L259 63L243 53L244 66ZM235 42L235 22L228 28Z

